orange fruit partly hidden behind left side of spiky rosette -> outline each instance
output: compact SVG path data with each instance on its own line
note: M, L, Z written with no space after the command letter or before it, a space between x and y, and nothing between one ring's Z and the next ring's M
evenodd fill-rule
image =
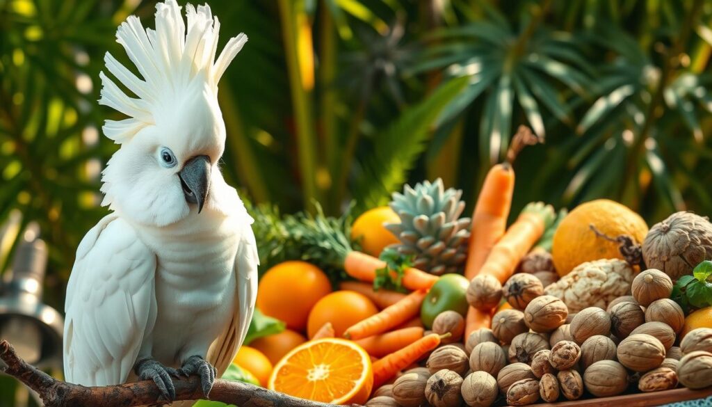
M351 226L351 239L360 242L363 252L378 257L384 247L399 242L384 223L400 223L400 217L387 206L367 210Z

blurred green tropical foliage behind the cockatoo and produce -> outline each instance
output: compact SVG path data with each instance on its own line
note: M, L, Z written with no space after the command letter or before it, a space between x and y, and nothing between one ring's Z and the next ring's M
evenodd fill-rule
M514 215L533 200L597 197L649 224L712 214L712 1L210 5L221 46L249 37L219 102L222 169L250 202L283 213L320 202L339 215L354 201L357 215L404 182L441 177L471 210L528 125L546 143L515 162ZM132 66L116 26L136 14L152 27L154 11L155 1L0 0L0 315L22 276L44 287L38 304L63 309L75 249L107 213L100 171L117 146L100 129L119 116L96 102L103 56ZM1 379L0 406L14 403L33 405Z

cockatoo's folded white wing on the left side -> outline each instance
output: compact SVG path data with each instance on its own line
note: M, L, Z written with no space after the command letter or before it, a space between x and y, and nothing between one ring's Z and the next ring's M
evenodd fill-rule
M64 375L84 386L126 381L156 319L156 256L115 215L79 244L65 304Z

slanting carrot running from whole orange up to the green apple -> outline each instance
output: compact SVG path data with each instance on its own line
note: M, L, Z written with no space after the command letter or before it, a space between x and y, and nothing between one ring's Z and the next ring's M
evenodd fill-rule
M378 314L350 326L344 332L346 339L363 339L367 336L382 334L404 322L409 321L420 312L420 306L425 299L425 291L415 291L408 294L399 302L387 307Z

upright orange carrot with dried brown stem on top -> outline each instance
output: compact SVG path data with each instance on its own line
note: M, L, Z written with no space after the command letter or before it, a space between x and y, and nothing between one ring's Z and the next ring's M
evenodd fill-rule
M493 166L477 198L472 215L465 277L473 279L496 242L504 235L512 206L514 170L508 163Z

